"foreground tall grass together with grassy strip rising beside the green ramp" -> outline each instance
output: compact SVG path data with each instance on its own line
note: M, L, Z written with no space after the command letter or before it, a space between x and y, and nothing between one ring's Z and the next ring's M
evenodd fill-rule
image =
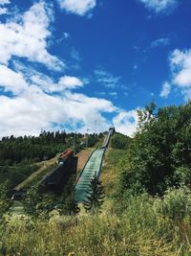
M106 155L101 178L107 197L101 214L52 212L49 220L8 216L0 223L0 255L190 256L190 192L171 190L164 199L123 192L115 199L123 154Z

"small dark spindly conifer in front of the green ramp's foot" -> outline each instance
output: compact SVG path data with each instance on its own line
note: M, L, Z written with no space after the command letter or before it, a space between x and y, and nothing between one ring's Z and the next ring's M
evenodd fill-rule
M87 190L87 199L83 202L83 207L86 212L96 214L96 212L100 211L104 198L102 182L95 174Z

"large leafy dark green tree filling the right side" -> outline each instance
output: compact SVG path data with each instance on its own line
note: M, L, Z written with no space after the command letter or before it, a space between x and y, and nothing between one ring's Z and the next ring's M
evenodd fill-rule
M178 170L191 168L191 102L159 109L152 104L139 110L138 132L120 167L122 189L146 190L162 195L168 187L180 186ZM186 175L187 183L190 182Z

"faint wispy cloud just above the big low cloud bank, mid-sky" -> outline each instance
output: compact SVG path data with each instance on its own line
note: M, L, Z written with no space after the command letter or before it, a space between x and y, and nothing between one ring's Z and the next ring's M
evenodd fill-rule
M110 72L103 68L95 70L96 81L107 88L115 88L119 84L120 77L114 77Z

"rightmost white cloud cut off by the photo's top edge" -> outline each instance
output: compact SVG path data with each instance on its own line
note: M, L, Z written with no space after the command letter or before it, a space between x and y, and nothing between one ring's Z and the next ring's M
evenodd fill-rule
M180 0L138 0L143 3L146 8L156 13L159 12L171 12L174 10Z

